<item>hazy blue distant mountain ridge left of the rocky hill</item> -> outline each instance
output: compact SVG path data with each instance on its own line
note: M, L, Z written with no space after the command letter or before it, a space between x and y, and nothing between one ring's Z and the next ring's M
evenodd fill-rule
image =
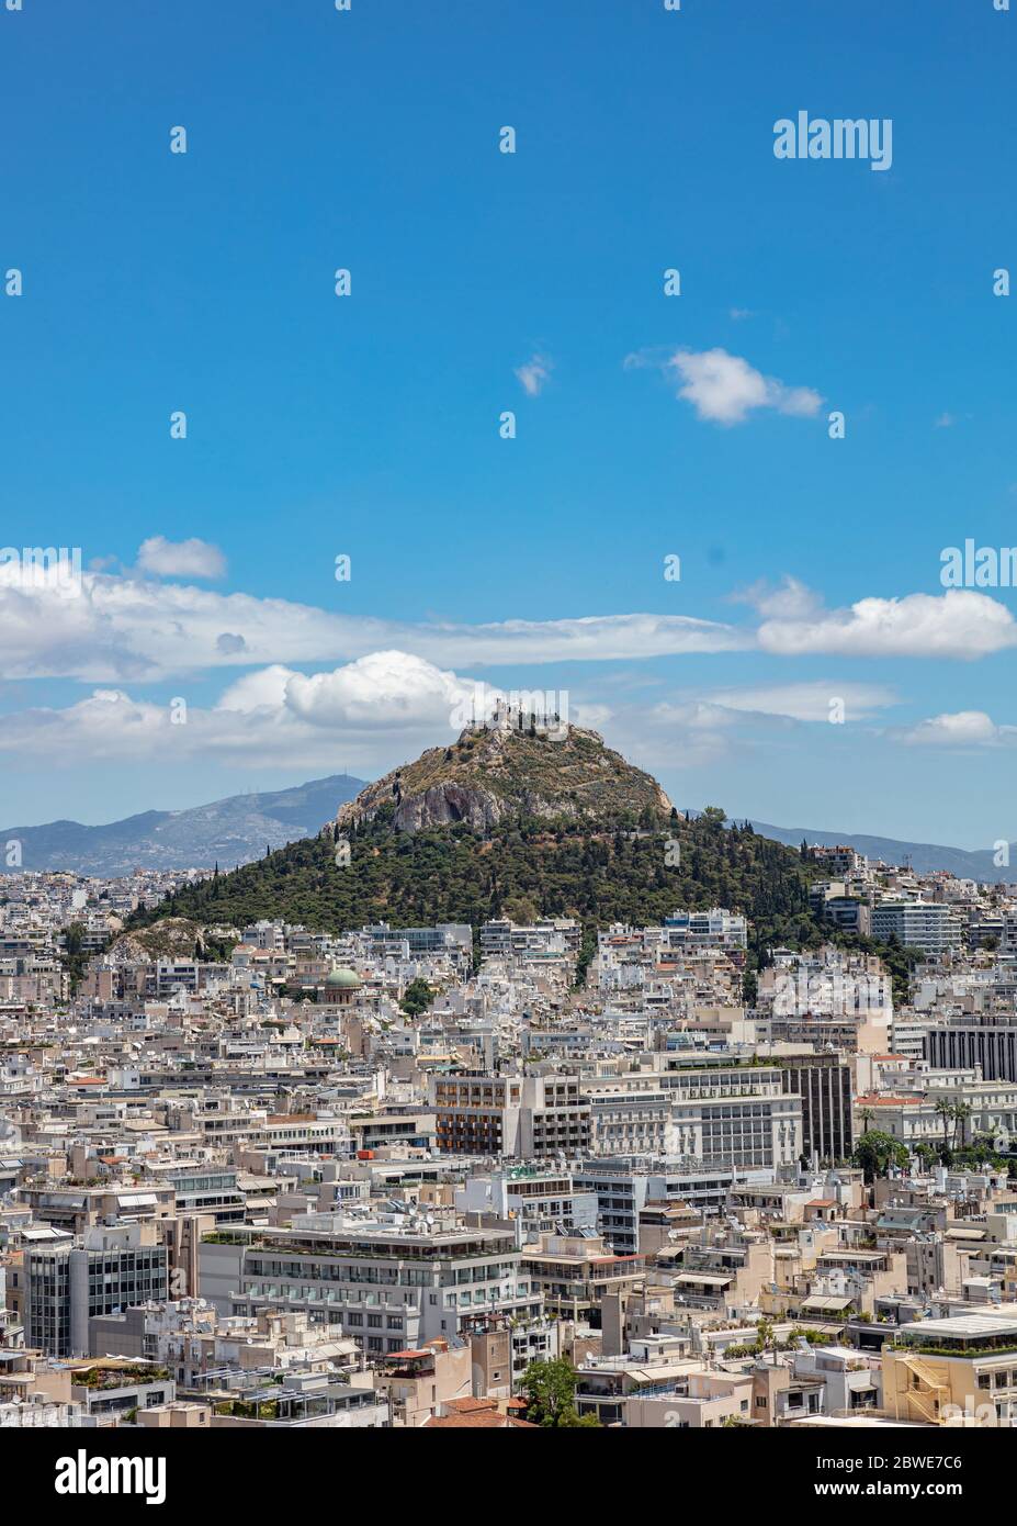
M124 821L85 827L79 821L47 821L40 827L0 829L0 848L21 844L23 870L70 870L114 879L133 868L224 868L250 864L265 847L316 833L337 807L352 800L364 781L331 774L293 789L227 795L191 810L143 810ZM17 873L0 852L5 873Z

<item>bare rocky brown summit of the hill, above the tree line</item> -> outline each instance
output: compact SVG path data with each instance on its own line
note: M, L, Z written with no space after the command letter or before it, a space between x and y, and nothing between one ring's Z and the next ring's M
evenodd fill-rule
M650 774L633 768L579 726L540 729L523 716L467 726L448 748L428 748L340 806L335 830L387 819L398 832L465 823L486 835L517 816L595 819L671 801ZM329 823L331 827L331 823ZM328 829L326 829L328 830Z

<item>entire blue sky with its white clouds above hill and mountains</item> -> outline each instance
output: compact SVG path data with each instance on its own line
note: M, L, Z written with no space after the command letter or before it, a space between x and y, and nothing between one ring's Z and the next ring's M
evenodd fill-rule
M1017 543L1017 11L23 3L2 539L85 578L0 569L6 824L371 777L479 679L682 806L1017 838L1014 591L939 581Z

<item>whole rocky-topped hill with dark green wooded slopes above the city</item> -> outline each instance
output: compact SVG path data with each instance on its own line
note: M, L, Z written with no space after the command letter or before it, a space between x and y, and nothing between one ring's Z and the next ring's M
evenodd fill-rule
M810 867L724 812L686 819L648 774L569 728L555 742L465 731L340 807L316 838L184 888L162 916L244 926L282 917L322 929L573 916L587 935L724 905L765 942L819 942Z

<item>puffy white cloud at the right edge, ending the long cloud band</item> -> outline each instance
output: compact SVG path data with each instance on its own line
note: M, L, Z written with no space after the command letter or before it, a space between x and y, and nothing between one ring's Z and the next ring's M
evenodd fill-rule
M779 656L836 653L869 658L980 658L1017 644L1011 612L987 594L947 589L901 598L861 598L849 609L810 606L800 584L787 607L756 601L758 644ZM779 595L776 595L779 598Z

